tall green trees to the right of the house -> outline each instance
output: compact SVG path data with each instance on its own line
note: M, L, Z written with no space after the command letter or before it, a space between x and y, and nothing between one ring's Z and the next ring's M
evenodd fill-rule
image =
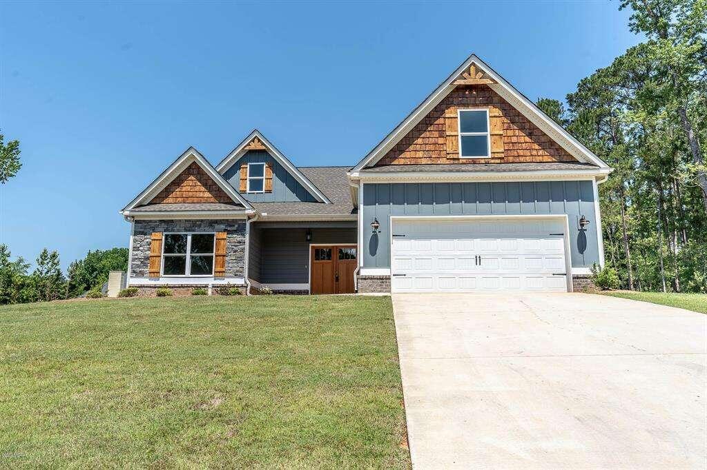
M646 40L538 106L614 172L600 186L620 287L707 292L707 0L624 0Z

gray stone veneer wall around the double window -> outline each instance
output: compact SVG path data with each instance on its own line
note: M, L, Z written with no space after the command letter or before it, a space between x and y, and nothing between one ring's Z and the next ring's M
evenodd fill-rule
M136 220L133 231L130 277L147 277L150 263L150 237L153 231L226 231L226 277L243 277L245 269L245 220ZM185 279L188 282L188 279ZM203 286L202 286L203 287Z

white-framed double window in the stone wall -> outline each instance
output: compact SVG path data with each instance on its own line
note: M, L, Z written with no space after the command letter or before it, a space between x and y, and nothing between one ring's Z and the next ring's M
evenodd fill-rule
M214 275L214 234L165 234L162 275Z

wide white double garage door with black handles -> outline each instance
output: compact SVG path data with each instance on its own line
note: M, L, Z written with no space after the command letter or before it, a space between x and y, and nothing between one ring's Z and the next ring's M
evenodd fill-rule
M559 219L393 219L393 292L567 291Z

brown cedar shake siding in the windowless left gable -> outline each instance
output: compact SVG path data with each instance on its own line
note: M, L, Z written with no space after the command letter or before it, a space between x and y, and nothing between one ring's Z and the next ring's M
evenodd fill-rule
M221 189L197 162L189 165L167 185L150 204L233 204L233 200Z

